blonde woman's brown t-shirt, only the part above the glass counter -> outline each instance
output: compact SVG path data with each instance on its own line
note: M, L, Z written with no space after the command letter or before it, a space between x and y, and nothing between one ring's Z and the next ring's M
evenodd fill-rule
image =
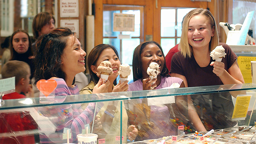
M236 54L231 50L231 48L224 43L220 43L225 49L227 55L225 58L222 58L222 61L225 64L225 69L228 71L234 62L237 59ZM210 55L210 53L209 53ZM185 76L188 82L188 87L192 86L207 86L207 85L221 85L223 84L219 78L212 72L213 66L210 66L212 60L207 67L200 67L194 55L191 55L191 58L184 58L181 52L176 52L172 57L172 64L170 73L177 73L182 76Z

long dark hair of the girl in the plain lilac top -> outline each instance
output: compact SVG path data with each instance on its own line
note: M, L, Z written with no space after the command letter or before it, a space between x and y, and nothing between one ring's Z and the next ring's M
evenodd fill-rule
M164 66L163 70L161 71L161 76L170 76L169 71L166 67L166 62L165 62L165 56L163 49L160 44L156 43L155 41L146 41L138 45L134 51L133 51L133 59L132 59L132 71L133 71L133 82L137 81L138 79L142 78L142 63L141 63L141 57L140 54L143 52L143 49L148 45L148 44L156 44L159 49L161 50L163 57L164 57Z

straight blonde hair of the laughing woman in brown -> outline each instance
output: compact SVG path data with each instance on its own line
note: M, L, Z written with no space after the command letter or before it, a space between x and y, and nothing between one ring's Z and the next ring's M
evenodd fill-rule
M181 51L181 54L186 57L191 57L191 54L193 53L192 46L188 44L188 23L189 20L196 15L203 15L208 19L209 24L211 25L211 28L214 29L214 36L211 37L210 44L209 44L209 50L212 51L216 46L219 45L219 35L218 35L218 29L215 22L214 17L212 16L212 13L203 8L196 8L188 12L184 18L183 24L182 24L182 32L180 37L180 44L179 49Z

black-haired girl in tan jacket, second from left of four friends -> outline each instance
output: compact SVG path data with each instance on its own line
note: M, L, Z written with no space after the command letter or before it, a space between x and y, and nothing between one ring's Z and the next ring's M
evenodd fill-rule
M89 72L91 76L91 82L80 91L80 94L90 94L93 92L95 88L95 84L99 83L99 77L97 74L97 68L100 65L100 63L104 60L108 60L111 62L113 74L108 77L108 81L110 85L108 86L107 92L125 92L128 90L128 81L124 81L121 83L119 80L119 83L116 84L116 78L118 76L119 71L119 55L116 50L116 48L112 45L108 44L99 44L95 46L91 52L88 55L88 67ZM100 112L98 113L98 117L100 118L101 124L102 124L102 130L100 133L98 133L99 138L103 138L101 136L106 136L106 138L110 137L110 133L116 136L120 136L120 106L121 103L119 101L110 101L110 102L103 102L104 106L101 108ZM123 102L124 107L124 102ZM128 123L128 116L125 110L125 107L123 108L123 118L122 118L122 124L127 125ZM118 127L119 126L119 127ZM107 135L106 135L107 134ZM138 130L135 128L134 125L122 127L122 135L126 135L127 137L124 137L124 140L122 143L127 143L127 138L129 140L134 140L138 134Z

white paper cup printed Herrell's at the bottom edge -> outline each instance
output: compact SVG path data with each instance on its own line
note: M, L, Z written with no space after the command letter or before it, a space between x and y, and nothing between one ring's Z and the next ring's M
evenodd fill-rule
M97 144L98 135L94 133L78 134L77 136L78 144Z

